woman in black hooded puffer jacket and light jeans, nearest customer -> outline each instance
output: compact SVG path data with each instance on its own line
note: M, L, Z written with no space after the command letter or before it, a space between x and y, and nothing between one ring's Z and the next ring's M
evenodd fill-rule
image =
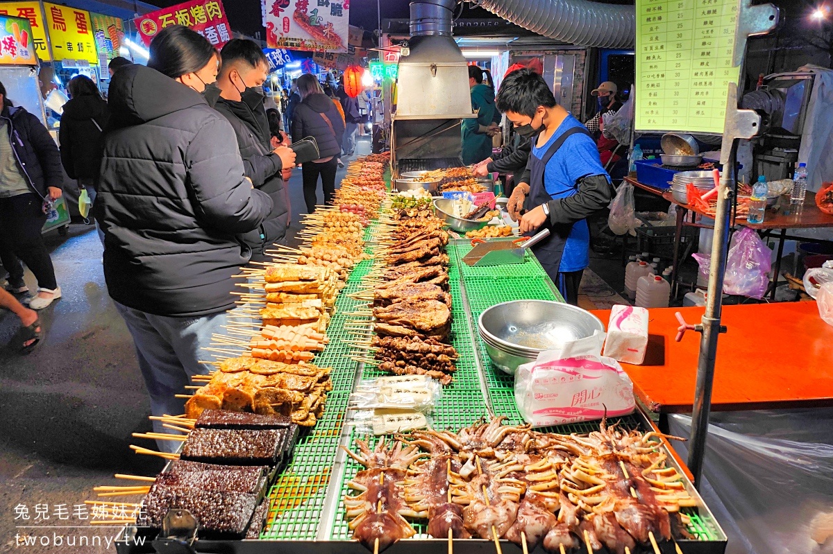
M202 97L217 64L204 37L170 26L151 42L147 67L123 67L110 84L94 210L107 289L132 334L155 415L182 413L174 395L206 373L201 349L225 324L232 275L251 255L235 235L272 210L269 195L243 176L231 124Z

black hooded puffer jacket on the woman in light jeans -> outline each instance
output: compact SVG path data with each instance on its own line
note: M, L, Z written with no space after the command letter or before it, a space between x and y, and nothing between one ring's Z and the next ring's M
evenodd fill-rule
M199 317L234 306L232 275L272 200L243 177L236 137L197 92L149 67L110 83L96 218L112 299L157 315Z

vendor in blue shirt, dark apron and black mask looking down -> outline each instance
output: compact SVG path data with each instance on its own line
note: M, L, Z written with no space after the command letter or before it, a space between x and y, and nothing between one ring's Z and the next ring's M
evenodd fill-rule
M525 235L550 230L532 250L566 301L577 304L581 274L590 262L586 217L605 208L613 191L596 142L556 103L544 79L528 69L503 80L497 109L521 136L533 137L526 171L509 199L509 215L520 219Z

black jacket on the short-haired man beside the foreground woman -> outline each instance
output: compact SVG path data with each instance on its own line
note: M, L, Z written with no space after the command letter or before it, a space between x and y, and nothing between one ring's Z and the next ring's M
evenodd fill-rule
M237 135L244 175L252 180L257 189L272 198L272 211L267 219L256 230L241 236L252 247L252 256L263 260L265 250L283 240L287 234L289 192L281 176L281 158L272 154L269 144L271 134L266 110L263 108L264 97L255 96L259 97L247 97L246 101L239 102L219 98L214 108L232 124L234 134Z

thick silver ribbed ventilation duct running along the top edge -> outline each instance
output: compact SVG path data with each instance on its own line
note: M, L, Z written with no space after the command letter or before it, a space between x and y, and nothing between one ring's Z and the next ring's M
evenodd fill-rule
M632 48L636 10L588 0L480 0L481 7L544 37L584 47Z

